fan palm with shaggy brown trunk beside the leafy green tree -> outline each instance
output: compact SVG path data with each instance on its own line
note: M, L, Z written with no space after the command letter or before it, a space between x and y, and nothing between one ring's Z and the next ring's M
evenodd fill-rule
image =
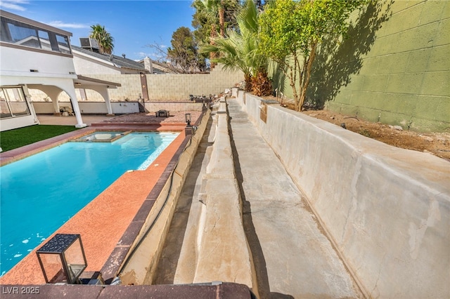
M231 71L240 69L244 73L246 91L259 96L270 95L269 60L263 51L259 51L257 18L257 6L252 0L246 1L236 15L238 29L229 29L228 37L219 37L213 44L200 46L200 52L219 53L212 62L219 62Z

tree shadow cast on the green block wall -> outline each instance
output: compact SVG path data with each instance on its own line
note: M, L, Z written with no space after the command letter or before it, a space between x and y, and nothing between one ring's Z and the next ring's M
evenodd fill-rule
M305 105L309 109L323 109L327 101L335 99L342 86L352 81L353 74L359 74L363 56L371 51L375 43L376 32L392 15L393 3L393 0L388 4L372 1L350 25L347 38L343 41L335 37L323 40L314 60L307 90Z

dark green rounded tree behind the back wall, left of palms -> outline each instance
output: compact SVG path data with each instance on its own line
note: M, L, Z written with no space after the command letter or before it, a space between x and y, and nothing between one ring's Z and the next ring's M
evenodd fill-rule
M181 68L184 73L192 73L200 69L202 62L199 62L197 43L191 29L179 27L172 34L172 46L167 49L167 56L175 62L176 67ZM201 60L201 59L200 59Z

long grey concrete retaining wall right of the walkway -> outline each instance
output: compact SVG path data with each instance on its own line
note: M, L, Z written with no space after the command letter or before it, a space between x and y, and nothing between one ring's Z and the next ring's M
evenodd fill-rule
M450 297L449 162L243 96L368 298Z

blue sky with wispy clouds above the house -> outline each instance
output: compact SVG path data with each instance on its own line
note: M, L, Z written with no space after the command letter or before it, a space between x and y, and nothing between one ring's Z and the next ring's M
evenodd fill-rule
M179 27L191 28L191 0L141 1L28 1L1 0L0 8L72 32L70 43L79 46L88 37L91 25L100 24L114 38L114 54L139 60L157 58L157 51L146 45L170 46L172 33Z

